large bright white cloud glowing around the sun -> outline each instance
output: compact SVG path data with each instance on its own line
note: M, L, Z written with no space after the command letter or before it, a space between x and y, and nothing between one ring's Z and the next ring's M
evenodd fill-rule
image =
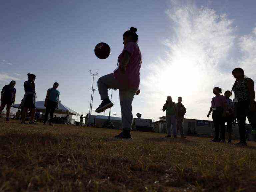
M229 53L236 28L226 15L218 15L213 9L172 3L166 11L173 26L172 38L164 42L166 54L149 65L150 75L142 80L144 102L152 106L147 116L156 119L164 115L162 105L171 95L173 101L183 97L188 118L206 119L213 87L230 90L234 81ZM228 73L223 70L227 64Z

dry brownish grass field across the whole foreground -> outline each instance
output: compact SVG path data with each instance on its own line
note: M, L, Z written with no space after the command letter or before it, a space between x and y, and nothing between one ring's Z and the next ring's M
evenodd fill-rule
M256 191L253 142L2 121L0 191Z

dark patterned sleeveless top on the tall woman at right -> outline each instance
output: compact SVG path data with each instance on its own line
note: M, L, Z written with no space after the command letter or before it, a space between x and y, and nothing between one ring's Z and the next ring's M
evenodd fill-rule
M234 85L235 97L238 101L248 101L249 100L249 89L248 89L249 78L243 78L242 81L237 81Z

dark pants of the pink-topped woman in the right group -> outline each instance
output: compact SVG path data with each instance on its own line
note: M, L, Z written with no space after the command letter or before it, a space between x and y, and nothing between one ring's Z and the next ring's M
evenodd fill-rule
M223 109L214 110L212 112L212 120L215 127L215 140L219 140L221 130L221 139L225 140L225 121L222 117Z

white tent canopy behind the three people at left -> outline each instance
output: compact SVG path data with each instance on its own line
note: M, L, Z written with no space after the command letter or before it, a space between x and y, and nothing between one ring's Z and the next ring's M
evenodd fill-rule
M44 106L44 101L37 101L35 103L36 109L38 109L41 113L46 112L46 107ZM13 108L19 108L20 104L12 105ZM74 110L66 107L62 103L59 103L59 108L55 110L54 113L57 114L67 114L69 112L69 115L80 115L79 113L75 112Z

